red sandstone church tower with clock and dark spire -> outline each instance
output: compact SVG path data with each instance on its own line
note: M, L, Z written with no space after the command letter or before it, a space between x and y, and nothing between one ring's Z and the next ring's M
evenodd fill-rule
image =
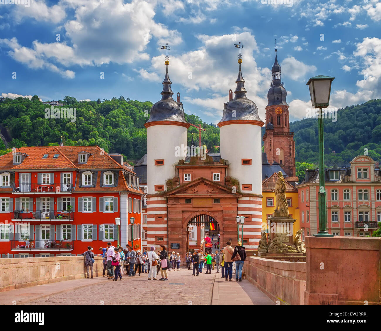
M290 132L287 92L280 79L282 68L278 63L275 48L275 62L271 69L272 82L267 93L266 133L263 135L264 151L269 164L277 162L288 177L295 177L295 141Z

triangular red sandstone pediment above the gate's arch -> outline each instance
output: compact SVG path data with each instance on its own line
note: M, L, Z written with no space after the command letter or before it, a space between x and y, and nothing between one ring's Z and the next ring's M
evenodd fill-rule
M207 178L200 177L192 182L182 184L176 188L173 188L169 191L166 191L163 195L170 196L173 194L181 194L181 195L218 195L218 194L229 194L232 196L241 196L239 192L233 192L232 188L228 186L221 185L219 183L213 182Z

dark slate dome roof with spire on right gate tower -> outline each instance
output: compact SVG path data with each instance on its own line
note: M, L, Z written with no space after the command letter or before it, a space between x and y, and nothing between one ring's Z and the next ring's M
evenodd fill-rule
M241 64L239 65L238 78L236 80L237 88L235 89L235 97L229 102L224 103L224 112L221 121L219 121L218 126L221 127L224 125L224 122L232 121L256 121L260 126L264 123L258 116L258 108L256 104L246 97L246 90L243 86L245 80L242 77ZM233 112L235 111L235 113ZM235 117L232 116L235 114ZM262 123L262 124L261 124ZM225 123L227 124L227 123Z

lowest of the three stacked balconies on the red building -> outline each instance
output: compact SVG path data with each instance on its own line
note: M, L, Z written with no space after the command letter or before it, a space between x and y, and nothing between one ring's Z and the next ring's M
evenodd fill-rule
M72 240L10 240L11 251L72 251Z

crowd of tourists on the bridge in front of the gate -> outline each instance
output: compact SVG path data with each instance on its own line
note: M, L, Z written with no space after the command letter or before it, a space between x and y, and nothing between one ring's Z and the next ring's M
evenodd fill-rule
M219 273L221 268L221 278L225 278L225 281L232 281L233 275L233 262L235 262L235 280L242 281L242 268L246 260L245 247L238 241L237 246L234 248L231 246L231 241L227 241L226 247L219 253L218 250L215 254L206 253L205 255L196 250L193 254L187 253L185 257L188 270L192 270L193 276L198 276L203 273L204 264L206 265L206 274L211 274L211 270L217 269L216 273ZM140 276L141 273L148 272L148 280L157 280L156 275L160 271L160 280L168 280L168 272L171 270L179 270L181 257L179 253L172 252L168 254L168 251L164 245L160 245L160 249L155 251L155 247L150 247L150 251L144 252L134 251L133 247L126 245L127 249L122 247L114 247L111 242L107 243L107 247L100 247L99 251L103 257L103 277L112 279L114 281L123 280L124 267L126 268L126 275L128 277L134 277L136 272ZM82 253L85 256L85 266L87 278L93 277L93 264L94 253L91 246L87 247L87 251ZM191 268L192 266L192 268Z

